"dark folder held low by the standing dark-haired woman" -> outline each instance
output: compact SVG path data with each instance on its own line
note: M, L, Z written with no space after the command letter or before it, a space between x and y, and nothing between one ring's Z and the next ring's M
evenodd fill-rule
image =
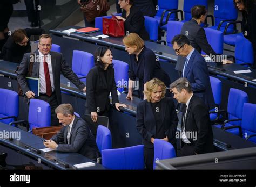
M92 131L92 134L97 133L97 128L99 125L103 125L109 128L109 117L106 117L106 116L98 116L97 121L93 122L90 114L84 114L84 120L86 121L87 125Z

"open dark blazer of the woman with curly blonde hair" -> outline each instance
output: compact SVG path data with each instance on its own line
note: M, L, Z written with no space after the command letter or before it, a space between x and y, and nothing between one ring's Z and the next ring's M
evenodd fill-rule
M173 99L164 97L161 99L161 117L164 131L169 142L176 147L176 130L178 125L178 117L175 110ZM156 135L156 121L152 111L151 103L143 100L137 106L136 128L142 135L144 146L153 148L154 145L150 139Z

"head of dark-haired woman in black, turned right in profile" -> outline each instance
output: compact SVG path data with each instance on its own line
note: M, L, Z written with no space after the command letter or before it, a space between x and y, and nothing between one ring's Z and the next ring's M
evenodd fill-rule
M112 66L113 56L111 49L108 47L98 47L94 55L95 66L99 66L102 69L106 69Z

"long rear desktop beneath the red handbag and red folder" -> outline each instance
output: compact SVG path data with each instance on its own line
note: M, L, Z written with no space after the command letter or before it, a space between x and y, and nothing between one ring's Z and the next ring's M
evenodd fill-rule
M82 28L78 26L67 26L64 28L57 28L54 30L50 30L50 33L56 34L56 35L61 35L61 36L68 36L71 38L77 38L86 42L93 42L101 45L106 45L106 46L111 46L111 47L116 47L121 50L125 50L125 46L123 45L122 39L123 38L114 38L114 37L109 37L109 38L104 38L102 40L99 39L93 39L90 36L86 36L84 34L79 34L79 33L70 33L67 34L65 32L62 32L63 30L69 29L69 28ZM97 31L94 33L90 33L89 35L92 36L97 36L102 34L101 31ZM152 49L156 56L159 56L160 59L164 59L170 62L177 62L177 55L174 53L173 49L169 46L165 45L160 45L156 44L154 42L150 41L145 41L146 47ZM225 69L226 71L221 71L220 69ZM256 86L256 81L252 81L256 79L256 70L250 69L252 73L245 73L245 74L235 74L233 71L234 70L246 70L248 69L247 67L238 65L238 64L224 64L224 65L217 65L216 63L208 63L208 70L210 74L213 75L221 75L227 78L230 78L235 81L239 81L241 83L247 82L248 84Z

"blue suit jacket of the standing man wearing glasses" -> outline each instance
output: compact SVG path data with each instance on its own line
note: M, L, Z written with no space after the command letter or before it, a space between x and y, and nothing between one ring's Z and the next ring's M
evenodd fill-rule
M191 83L196 96L203 100L208 110L214 109L215 102L209 78L208 67L203 56L194 50L185 68L184 77Z

